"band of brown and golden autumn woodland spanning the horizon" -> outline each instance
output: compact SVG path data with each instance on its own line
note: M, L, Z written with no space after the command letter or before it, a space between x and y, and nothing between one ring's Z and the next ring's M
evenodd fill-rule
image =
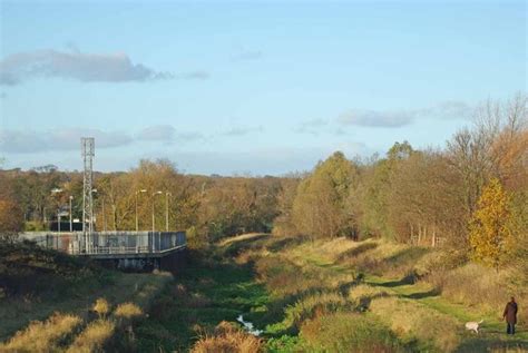
M283 177L185 175L169 160L141 160L127 173L95 174L96 228L134 229L137 207L139 229L151 229L153 209L165 229L168 210L169 229L187 229L192 242L248 232L387 237L472 248L499 266L527 243L527 120L525 95L488 100L442 149L401 141L368 159L336 151L311 173ZM77 171L1 170L2 231L46 229L70 196L80 218L81 190Z

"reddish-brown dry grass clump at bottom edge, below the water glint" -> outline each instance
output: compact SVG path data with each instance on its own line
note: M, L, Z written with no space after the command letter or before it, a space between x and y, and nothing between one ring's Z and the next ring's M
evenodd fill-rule
M193 346L194 353L254 353L263 352L264 343L228 322L221 322L212 334L205 334Z

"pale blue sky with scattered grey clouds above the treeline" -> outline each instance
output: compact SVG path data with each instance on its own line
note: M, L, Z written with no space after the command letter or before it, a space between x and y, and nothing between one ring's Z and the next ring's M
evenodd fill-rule
M284 175L527 88L526 1L3 1L0 168Z

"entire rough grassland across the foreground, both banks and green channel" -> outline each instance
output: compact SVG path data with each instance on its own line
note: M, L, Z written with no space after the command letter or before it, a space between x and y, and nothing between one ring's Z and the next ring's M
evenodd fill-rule
M505 286L508 269L441 249L248 234L189 251L176 277L27 244L8 253L0 352L528 351L522 306L515 336L500 320L509 294L522 305L526 288ZM478 335L465 330L480 320Z

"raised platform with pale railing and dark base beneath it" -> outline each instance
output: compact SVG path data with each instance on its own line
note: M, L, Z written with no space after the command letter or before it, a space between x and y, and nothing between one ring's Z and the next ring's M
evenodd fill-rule
M123 269L177 269L185 232L28 232L20 239Z

